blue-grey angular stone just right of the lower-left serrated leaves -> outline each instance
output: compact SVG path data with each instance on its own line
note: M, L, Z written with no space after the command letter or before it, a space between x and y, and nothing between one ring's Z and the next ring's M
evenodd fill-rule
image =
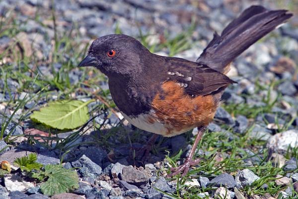
M95 175L98 176L101 174L101 167L97 165L96 163L92 162L87 156L82 155L77 161L72 162L73 167L81 167L80 170L83 168L87 168L88 171ZM87 176L84 176L87 177Z

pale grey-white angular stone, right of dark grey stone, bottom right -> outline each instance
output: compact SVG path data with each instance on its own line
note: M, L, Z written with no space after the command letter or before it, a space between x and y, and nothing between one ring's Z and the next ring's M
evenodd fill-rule
M259 179L260 179L260 177L255 175L249 169L243 169L235 177L236 187L238 189L243 189L247 185L251 185L254 181L259 180Z

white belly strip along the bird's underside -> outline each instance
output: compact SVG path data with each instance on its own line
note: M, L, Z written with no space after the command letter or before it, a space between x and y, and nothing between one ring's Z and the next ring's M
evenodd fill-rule
M194 127L188 128L188 129L175 130L174 128L172 128L172 126L170 126L168 124L161 123L160 121L158 121L152 115L149 115L149 114L140 114L137 117L131 118L131 117L127 116L125 113L123 113L122 111L120 111L120 112L123 115L123 117L125 119L127 119L134 126L140 128L142 130L151 132L151 133L163 135L165 137L179 135L181 133L186 132L187 130L190 130L190 129L196 127L196 126L194 126Z

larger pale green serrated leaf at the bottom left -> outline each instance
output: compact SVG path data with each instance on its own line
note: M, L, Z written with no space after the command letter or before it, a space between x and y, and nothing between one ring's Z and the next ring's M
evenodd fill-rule
M40 186L43 194L53 196L70 192L78 188L78 176L72 169L65 169L62 165L46 165L45 171L40 172L39 177L48 177L48 180Z

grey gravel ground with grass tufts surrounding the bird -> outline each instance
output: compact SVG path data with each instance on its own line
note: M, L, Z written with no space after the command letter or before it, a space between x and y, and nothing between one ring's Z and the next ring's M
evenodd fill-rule
M105 107L103 101L113 107L106 78L76 67L86 47L99 36L122 32L157 54L195 61L213 32L221 32L252 4L290 9L296 15L233 62L228 76L238 84L226 89L225 103L197 151L206 161L185 178L165 178L172 162L181 162L175 157L179 150L182 158L189 151L196 129L159 138L144 162L130 157L130 149L142 146L150 133L126 121L120 124L112 111L117 108ZM297 197L297 10L295 0L1 0L0 161L12 165L15 158L34 152L38 163L63 160L64 168L76 168L79 188L54 199ZM88 105L90 114L104 113L63 147L49 141L49 133L57 130L29 119L32 110L51 100L95 97ZM23 99L29 100L22 104ZM29 131L49 139L30 137ZM59 131L57 137L74 132ZM0 178L0 199L49 198L40 185L13 170Z

